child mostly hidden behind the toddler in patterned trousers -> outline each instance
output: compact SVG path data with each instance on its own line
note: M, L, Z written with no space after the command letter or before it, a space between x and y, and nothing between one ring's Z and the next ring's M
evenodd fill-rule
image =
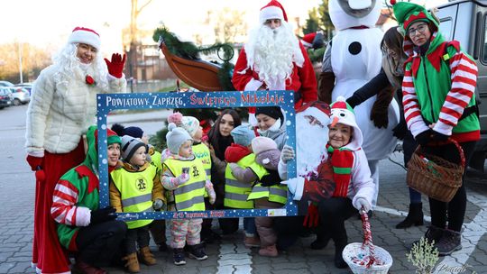
M202 142L203 138L203 128L199 125L197 118L192 116L183 116L182 114L176 112L170 114L168 117L168 123L176 123L178 127L185 129L189 136L193 139L193 153L196 158L201 160L203 167L207 172L207 177L211 181L211 156L207 144ZM166 153L167 155L167 153ZM215 209L214 205L209 203L209 197L205 192L205 208L206 210ZM203 220L201 224L201 242L210 243L214 242L215 239L219 239L220 236L211 230L211 224L213 219L207 218Z

